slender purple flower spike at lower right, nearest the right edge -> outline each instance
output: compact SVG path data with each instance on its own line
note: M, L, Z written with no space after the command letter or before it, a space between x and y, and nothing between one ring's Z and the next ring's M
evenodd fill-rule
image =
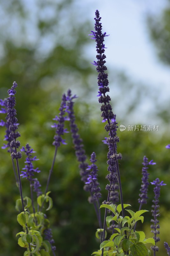
M156 180L153 180L153 182L151 182L152 185L155 185L153 191L154 191L154 200L152 200L153 202L153 205L152 205L152 208L153 210L151 210L152 212L152 216L153 216L153 219L151 220L151 222L153 223L151 225L151 232L154 234L153 236L153 239L155 240L155 245L154 246L151 246L151 249L153 250L153 253L154 253L154 256L155 256L155 253L158 252L159 250L159 247L156 246L156 243L160 241L160 238L157 236L157 234L159 234L159 220L157 219L157 217L160 216L160 213L159 213L159 196L160 196L160 187L161 186L165 186L166 184L163 183L163 181L160 182L159 178L157 178Z

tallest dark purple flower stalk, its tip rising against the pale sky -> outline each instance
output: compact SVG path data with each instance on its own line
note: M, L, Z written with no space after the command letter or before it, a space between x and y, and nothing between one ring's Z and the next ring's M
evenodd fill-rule
M109 92L109 81L108 81L108 74L105 73L107 70L107 67L104 65L106 63L105 61L105 45L104 45L104 37L108 36L106 35L106 32L104 34L102 33L102 23L101 17L99 14L99 11L96 10L95 12L96 18L95 19L95 31L91 31L92 33L92 39L96 41L96 51L97 51L97 61L94 61L93 65L96 66L96 70L98 72L98 86L99 86L99 103L102 103L101 106L101 117L103 118L102 122L106 122L108 124L105 125L105 129L107 132L109 132L109 137L106 139L106 143L109 146L109 152L108 152L108 171L109 175L107 175L107 179L109 180L109 184L106 186L106 189L108 190L108 198L107 201L110 201L110 193L115 191L114 183L118 180L119 184L119 191L120 191L120 201L122 206L122 215L123 218L125 217L124 214L124 207L123 207L123 193L122 193L122 185L121 185L121 179L120 179L120 172L119 172L119 166L118 166L118 160L122 159L122 155L119 153L117 154L117 142L119 142L119 138L117 137L117 122L116 122L116 115L112 112L112 107L110 105L110 96L107 94ZM117 175L115 174L117 173ZM107 216L107 208L105 210L105 219ZM105 234L105 226L106 222L104 221L104 232L103 232L103 241L104 241L104 234ZM102 252L103 255L103 252Z

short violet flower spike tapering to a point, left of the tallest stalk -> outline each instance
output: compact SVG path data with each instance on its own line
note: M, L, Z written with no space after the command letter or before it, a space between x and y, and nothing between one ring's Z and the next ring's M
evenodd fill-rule
M99 187L100 184L97 180L97 165L96 163L96 154L95 152L93 152L91 154L91 158L90 158L90 162L92 163L91 165L88 166L87 170L90 170L90 174L89 177L87 178L87 182L85 182L85 184L89 184L90 187L90 192L91 192L91 196L89 197L89 203L93 203L94 201L97 200L97 198L101 197L101 188Z

